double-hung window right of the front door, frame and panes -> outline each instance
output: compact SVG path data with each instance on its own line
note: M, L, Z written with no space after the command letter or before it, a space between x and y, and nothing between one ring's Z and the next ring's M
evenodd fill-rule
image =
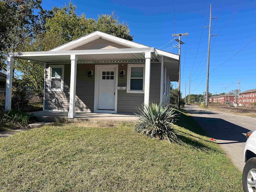
M128 64L127 68L127 93L144 93L145 65Z

